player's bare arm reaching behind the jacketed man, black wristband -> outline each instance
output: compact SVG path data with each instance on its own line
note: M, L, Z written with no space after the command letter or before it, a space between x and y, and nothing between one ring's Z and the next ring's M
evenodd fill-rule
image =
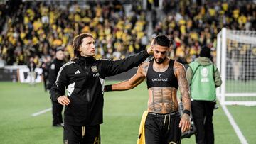
M106 91L124 91L124 90L128 90L128 89L133 89L134 87L136 87L137 85L139 85L140 83L142 83L144 81L145 74L144 74L144 64L140 65L137 73L134 74L134 76L124 82L120 82L117 84L112 84L112 85L107 85L105 86L105 92Z

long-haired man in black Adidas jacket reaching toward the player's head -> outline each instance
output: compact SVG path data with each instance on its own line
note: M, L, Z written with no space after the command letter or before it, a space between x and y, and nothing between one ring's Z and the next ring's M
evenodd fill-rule
M95 40L82 33L74 38L73 50L75 59L60 68L50 96L65 106L64 143L100 143L105 77L137 67L151 48L124 60L95 60Z

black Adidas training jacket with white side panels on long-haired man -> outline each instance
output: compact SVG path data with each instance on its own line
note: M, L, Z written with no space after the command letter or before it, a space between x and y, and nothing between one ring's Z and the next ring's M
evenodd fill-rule
M78 57L60 68L50 89L50 97L57 101L68 92L70 104L65 106L64 123L74 126L101 124L105 77L126 72L137 67L148 57L146 50L124 60L95 60L94 57Z

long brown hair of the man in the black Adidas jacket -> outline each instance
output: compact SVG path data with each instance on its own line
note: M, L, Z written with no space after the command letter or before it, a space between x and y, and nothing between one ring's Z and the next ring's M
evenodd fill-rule
M93 38L92 34L90 33L81 33L80 35L75 36L73 40L73 51L74 51L74 56L75 57L80 57L81 54L79 52L80 45L82 44L82 39L84 38Z

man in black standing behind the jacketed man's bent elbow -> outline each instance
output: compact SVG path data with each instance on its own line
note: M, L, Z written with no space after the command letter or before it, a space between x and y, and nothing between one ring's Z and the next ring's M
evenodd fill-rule
M60 67L62 67L64 62L64 51L62 48L57 48L55 53L55 59L53 62L50 62L49 67L49 74L48 74L48 84L47 87L50 89L53 87L53 84L57 78L58 71L60 70ZM63 126L63 117L62 117L62 110L63 105L59 104L58 101L52 101L52 112L53 112L53 126L55 127L62 127Z

